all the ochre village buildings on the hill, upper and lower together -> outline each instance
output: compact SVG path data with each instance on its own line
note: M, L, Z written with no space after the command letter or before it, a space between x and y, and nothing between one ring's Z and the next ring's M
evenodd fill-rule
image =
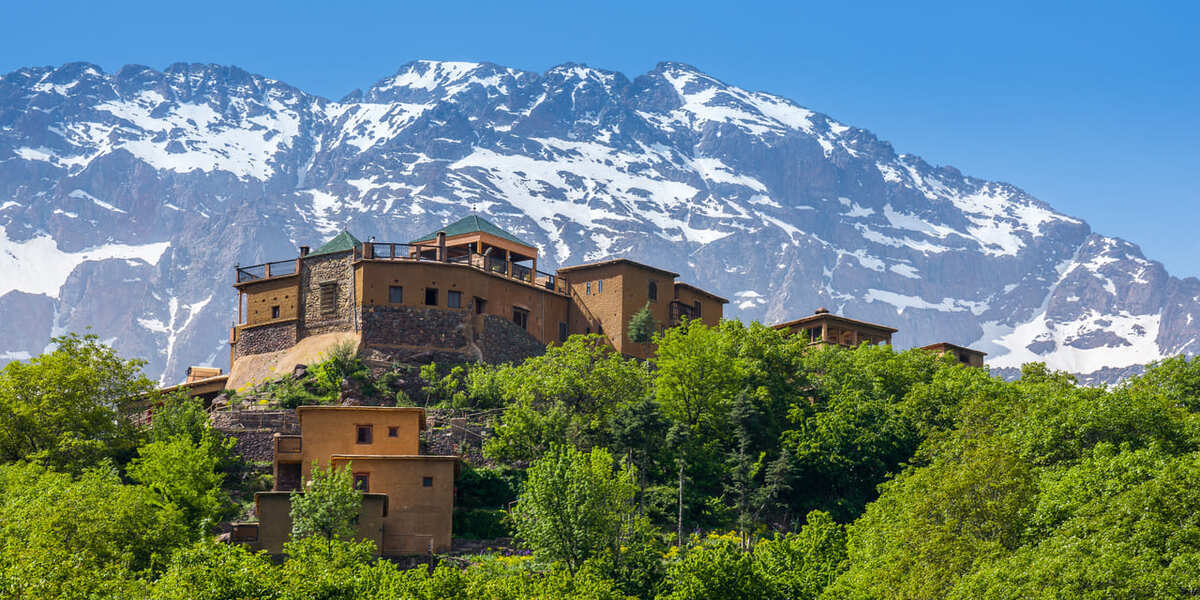
M368 365L520 362L571 335L595 334L617 353L647 359L650 344L630 322L649 312L658 331L684 320L716 325L727 300L678 281L678 274L617 258L538 269L538 248L472 215L407 244L361 241L342 232L294 259L235 268L238 320L228 374L192 367L173 389L211 398L293 373L340 344ZM890 344L896 331L818 308L775 329L812 344ZM924 347L983 367L984 353ZM413 407L299 407L299 432L271 439L274 488L256 496L257 521L230 539L282 552L290 492L313 466L353 463L364 496L360 536L384 556L451 547L458 458L421 454L426 414Z

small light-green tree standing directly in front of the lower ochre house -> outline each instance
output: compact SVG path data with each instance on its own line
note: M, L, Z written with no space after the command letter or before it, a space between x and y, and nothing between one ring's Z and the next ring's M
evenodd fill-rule
M304 492L292 492L292 539L350 539L361 508L362 494L354 488L349 464L323 469L313 462Z

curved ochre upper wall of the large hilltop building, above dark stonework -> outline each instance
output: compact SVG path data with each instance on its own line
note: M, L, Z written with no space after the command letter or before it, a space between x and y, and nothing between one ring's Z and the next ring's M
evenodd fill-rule
M558 324L566 323L568 300L545 288L521 283L467 265L424 262L361 260L356 265L356 298L362 306L388 306L388 288L403 288L402 306L434 308L425 304L426 288L438 290L436 308L472 314L475 298L486 300L485 313L512 318L512 307L529 311L526 330L542 343L558 341ZM458 308L449 307L449 293L461 292Z

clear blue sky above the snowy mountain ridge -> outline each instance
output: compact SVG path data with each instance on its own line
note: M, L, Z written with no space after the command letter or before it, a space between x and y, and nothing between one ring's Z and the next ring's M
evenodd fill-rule
M0 71L218 62L337 98L413 59L630 77L678 60L1015 184L1200 275L1193 2L119 4L6 2Z

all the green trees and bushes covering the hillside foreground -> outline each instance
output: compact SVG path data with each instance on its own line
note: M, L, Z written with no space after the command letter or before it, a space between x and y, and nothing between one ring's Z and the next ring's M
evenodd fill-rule
M330 516L353 499L338 474L302 509L335 521L294 532L284 559L215 541L239 457L203 409L167 398L134 424L140 364L56 342L0 371L0 598L1200 592L1200 362L1184 358L1084 388L1038 364L1004 382L922 350L689 323L648 362L576 336L520 365L427 367L421 397L397 397L395 374L332 356L311 367L326 382L277 389L332 401L358 378L377 398L493 414L456 535L526 550L402 570Z

